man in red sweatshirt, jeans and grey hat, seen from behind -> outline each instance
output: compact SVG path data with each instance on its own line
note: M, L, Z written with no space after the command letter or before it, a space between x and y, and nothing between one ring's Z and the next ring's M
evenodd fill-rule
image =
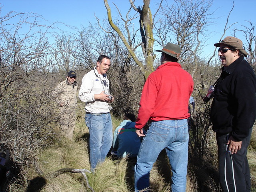
M135 191L149 187L149 174L165 148L172 167L172 192L185 192L188 164L188 101L193 91L191 75L177 62L180 46L168 43L161 65L152 72L142 90L136 133L145 136L135 166ZM142 128L151 121L143 134Z

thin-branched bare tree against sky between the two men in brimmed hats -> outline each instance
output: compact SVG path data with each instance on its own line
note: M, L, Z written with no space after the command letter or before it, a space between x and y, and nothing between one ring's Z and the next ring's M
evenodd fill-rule
M192 77L200 66L199 54L210 24L211 5L211 1L205 0L174 0L173 4L167 3L162 9L162 17L156 25L157 42L161 46L167 41L177 43L185 64L192 65Z

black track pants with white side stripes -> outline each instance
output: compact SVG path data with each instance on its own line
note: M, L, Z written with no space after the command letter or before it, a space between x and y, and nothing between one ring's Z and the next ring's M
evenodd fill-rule
M223 192L250 192L250 168L246 154L251 134L252 128L249 136L242 140L242 147L236 154L228 152L228 134L216 134L220 185Z

